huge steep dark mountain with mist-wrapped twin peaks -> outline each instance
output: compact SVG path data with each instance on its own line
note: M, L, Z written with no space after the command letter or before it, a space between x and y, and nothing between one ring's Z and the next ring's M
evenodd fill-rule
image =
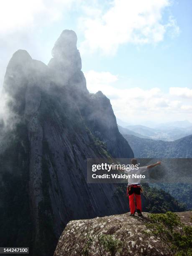
M48 66L19 50L5 74L0 243L29 245L35 256L53 255L70 220L127 210L113 184L86 182L87 158L130 158L133 151L110 101L87 91L76 43L73 31L63 31Z

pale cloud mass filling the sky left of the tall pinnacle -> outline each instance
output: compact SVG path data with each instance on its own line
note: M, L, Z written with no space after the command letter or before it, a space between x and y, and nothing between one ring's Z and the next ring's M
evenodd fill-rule
M0 87L8 61L18 49L26 49L34 59L48 63L59 33L68 28L65 22L70 20L69 14L79 9L81 3L82 0L1 1Z

